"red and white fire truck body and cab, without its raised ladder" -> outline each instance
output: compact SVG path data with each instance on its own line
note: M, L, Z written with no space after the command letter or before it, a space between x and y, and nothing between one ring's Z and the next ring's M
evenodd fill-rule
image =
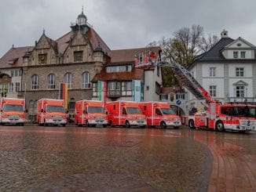
M256 106L234 103L210 103L205 113L188 116L191 129L207 127L217 131L256 130Z

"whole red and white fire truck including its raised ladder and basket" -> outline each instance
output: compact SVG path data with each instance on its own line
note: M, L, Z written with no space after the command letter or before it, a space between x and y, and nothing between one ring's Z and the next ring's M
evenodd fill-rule
M187 115L182 121L191 129L207 128L222 132L232 130L246 132L256 129L256 106L236 103L220 103L213 100L210 94L196 81L196 79L178 63L165 63L160 60L154 62L149 58L148 63L137 64L136 67L144 68L148 66L171 67L174 76L179 80L182 86L199 100L204 108L204 112L197 112L193 115Z

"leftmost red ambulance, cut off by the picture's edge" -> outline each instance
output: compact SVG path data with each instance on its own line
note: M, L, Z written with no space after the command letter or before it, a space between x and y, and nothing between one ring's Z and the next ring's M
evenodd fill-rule
M24 125L25 100L15 98L1 99L1 124Z

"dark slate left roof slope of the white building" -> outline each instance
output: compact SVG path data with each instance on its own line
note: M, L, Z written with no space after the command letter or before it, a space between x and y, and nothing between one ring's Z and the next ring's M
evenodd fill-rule
M195 61L225 60L224 56L222 56L221 54L221 49L223 49L226 45L229 45L233 41L234 39L232 38L221 38L210 50L197 56Z

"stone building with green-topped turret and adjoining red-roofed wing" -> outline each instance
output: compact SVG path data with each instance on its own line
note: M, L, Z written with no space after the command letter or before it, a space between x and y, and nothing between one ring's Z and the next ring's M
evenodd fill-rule
M71 24L71 31L57 40L43 31L34 46L10 49L0 60L0 84L5 79L4 89L11 90L7 97L26 99L27 118L35 121L37 101L59 98L60 83L65 82L72 119L75 101L101 100L99 95L103 89L98 88L101 82L108 86L108 100L134 100L135 97L136 100L157 100L162 84L161 70L159 67L157 70L135 68L134 54L158 50L159 47L111 50L82 12ZM115 94L124 92L126 95Z

